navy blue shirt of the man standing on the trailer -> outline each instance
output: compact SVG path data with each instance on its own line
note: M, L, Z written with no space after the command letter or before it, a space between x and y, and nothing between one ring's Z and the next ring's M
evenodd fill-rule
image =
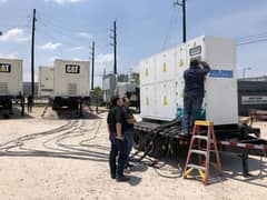
M206 63L201 64L204 68L190 66L190 68L184 72L185 97L204 97L204 80L210 71L210 67Z

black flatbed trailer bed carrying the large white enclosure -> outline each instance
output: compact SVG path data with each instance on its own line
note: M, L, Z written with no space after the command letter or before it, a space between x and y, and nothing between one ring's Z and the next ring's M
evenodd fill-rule
M205 134L205 131L201 131ZM221 152L239 153L243 157L243 173L248 176L248 156L267 158L267 140L259 138L260 130L240 124L215 127L217 144ZM190 136L181 134L180 120L166 123L140 121L135 124L135 142L141 143L146 134L171 137L179 144L187 147ZM138 138L138 139L136 139ZM148 142L147 142L148 143ZM138 146L138 143L136 144Z

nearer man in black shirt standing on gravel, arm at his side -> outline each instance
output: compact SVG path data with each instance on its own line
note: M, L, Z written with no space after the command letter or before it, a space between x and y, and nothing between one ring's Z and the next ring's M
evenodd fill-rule
M129 177L123 174L127 161L127 141L125 139L126 119L122 110L123 101L121 98L112 98L111 109L109 110L107 123L111 150L109 154L110 176L117 181L128 181ZM117 156L118 164L117 164Z

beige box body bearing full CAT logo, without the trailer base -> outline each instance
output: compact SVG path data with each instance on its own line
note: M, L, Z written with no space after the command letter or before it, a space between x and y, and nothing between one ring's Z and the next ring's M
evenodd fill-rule
M53 97L89 97L89 61L55 60Z

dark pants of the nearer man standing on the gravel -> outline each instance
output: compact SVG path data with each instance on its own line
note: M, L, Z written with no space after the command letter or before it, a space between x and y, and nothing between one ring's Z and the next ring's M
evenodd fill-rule
M109 167L110 167L110 174L112 178L121 178L123 177L123 169L127 160L127 141L118 140L115 138L115 134L111 133L110 136L111 141L111 150L109 154ZM117 164L117 156L118 164Z

